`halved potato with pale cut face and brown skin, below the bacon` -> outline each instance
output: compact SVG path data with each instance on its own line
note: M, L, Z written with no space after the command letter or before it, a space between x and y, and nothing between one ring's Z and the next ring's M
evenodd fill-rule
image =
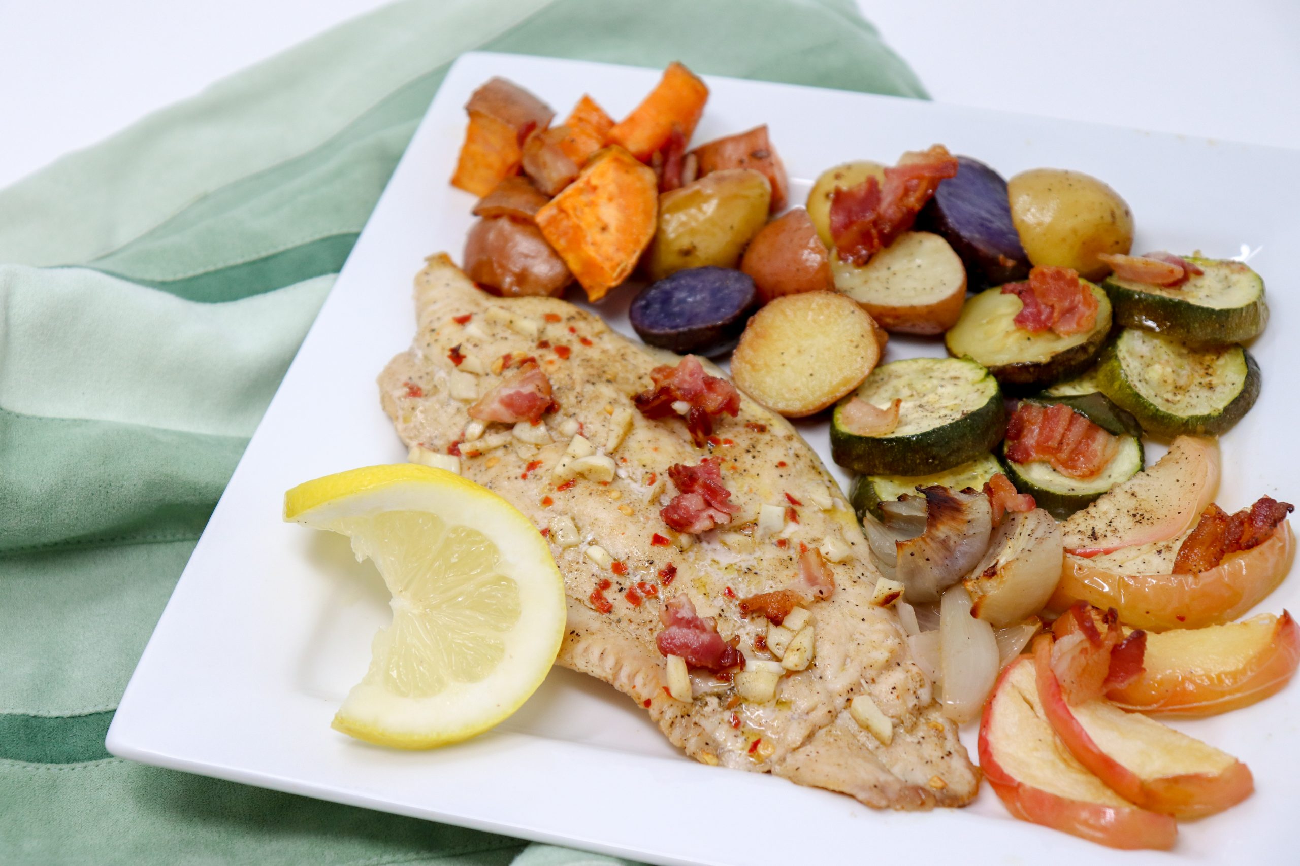
M928 231L904 234L862 266L832 256L831 273L837 291L896 334L942 334L966 301L962 260Z

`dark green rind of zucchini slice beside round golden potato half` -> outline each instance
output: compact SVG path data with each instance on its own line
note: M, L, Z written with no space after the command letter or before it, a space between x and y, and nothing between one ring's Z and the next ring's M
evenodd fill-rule
M831 457L861 475L930 475L984 454L1006 432L1001 388L988 402L957 421L907 436L857 436L831 415Z

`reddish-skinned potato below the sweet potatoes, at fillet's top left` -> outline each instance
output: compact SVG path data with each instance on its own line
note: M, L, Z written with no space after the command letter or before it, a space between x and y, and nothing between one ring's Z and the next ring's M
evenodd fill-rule
M573 279L537 226L485 217L465 238L465 274L493 295L556 297Z

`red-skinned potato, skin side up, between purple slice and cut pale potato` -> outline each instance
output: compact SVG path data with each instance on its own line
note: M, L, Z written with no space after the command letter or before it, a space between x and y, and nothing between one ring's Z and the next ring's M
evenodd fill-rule
M749 241L740 269L758 290L758 303L781 295L829 290L831 254L803 208L794 208L763 226Z

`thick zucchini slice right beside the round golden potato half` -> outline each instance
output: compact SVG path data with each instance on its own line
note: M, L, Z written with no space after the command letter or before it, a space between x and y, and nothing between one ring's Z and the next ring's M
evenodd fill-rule
M887 436L844 428L844 404L875 406L896 399L898 426ZM992 451L1006 431L1002 390L988 370L965 358L909 358L883 364L831 417L831 456L863 475L928 475Z

